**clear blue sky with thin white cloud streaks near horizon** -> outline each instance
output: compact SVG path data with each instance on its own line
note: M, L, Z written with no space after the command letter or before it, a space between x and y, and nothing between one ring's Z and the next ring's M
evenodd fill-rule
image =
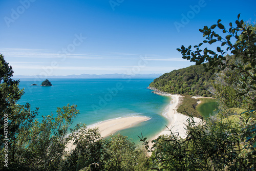
M14 75L151 74L193 65L176 48L203 26L254 21L256 1L0 0L0 53Z

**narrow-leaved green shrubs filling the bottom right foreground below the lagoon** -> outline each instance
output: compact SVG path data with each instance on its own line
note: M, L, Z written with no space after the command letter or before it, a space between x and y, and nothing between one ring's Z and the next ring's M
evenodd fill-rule
M169 136L153 140L151 168L157 170L253 170L255 161L244 156L240 127L231 122L208 121L197 125L188 119L187 137ZM148 142L144 141L144 144ZM255 151L254 151L255 152Z

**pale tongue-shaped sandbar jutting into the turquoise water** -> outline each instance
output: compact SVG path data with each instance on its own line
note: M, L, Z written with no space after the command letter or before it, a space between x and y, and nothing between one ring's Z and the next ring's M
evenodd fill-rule
M147 120L150 120L150 118L142 116L123 117L102 121L91 126L89 125L88 128L93 129L95 127L98 127L101 137L105 138L114 134L117 131L127 129ZM75 148L75 146L72 142L70 142L66 147L66 151L70 151L73 148Z

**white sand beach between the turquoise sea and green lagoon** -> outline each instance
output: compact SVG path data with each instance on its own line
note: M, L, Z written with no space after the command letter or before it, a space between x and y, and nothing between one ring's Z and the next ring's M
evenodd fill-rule
M150 90L154 90L152 93L161 95L161 96L169 96L172 99L170 100L170 103L167 106L167 112L166 114L164 114L164 116L168 119L168 125L166 125L168 127L168 129L172 129L172 132L175 134L178 134L179 137L181 138L186 138L186 130L185 130L185 123L186 120L189 118L186 115L182 115L180 113L177 112L177 109L179 107L179 104L181 103L180 97L182 97L181 95L173 95L173 94L168 94L165 92L161 92L159 90L157 90L156 88L151 88L148 87L148 89ZM195 122L200 123L202 121L202 119L196 118L194 117ZM150 147L152 147L153 143L151 142L154 139L157 139L160 135L170 135L170 131L167 128L162 130L160 133L158 133L157 135L155 135L153 138L149 139L149 143L148 145L150 145Z

